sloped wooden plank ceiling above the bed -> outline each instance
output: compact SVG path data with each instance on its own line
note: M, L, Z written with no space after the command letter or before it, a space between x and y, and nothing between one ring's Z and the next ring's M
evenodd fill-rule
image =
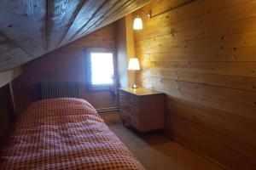
M0 71L84 37L150 0L1 0Z

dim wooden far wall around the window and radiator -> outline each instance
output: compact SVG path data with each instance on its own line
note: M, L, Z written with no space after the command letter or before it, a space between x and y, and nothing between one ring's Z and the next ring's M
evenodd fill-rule
M13 82L17 111L23 111L32 101L40 99L40 82L44 80L79 79L82 98L96 108L116 106L116 99L108 91L86 91L85 48L115 48L114 26L106 26L23 65L23 74Z

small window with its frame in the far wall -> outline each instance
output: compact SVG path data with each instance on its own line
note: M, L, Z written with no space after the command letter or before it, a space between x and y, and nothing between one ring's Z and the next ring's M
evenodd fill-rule
M86 51L89 64L89 90L109 89L114 77L113 50L108 48L88 48Z

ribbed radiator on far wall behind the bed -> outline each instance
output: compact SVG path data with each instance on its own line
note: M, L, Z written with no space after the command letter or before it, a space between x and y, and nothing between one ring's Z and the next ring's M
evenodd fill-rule
M79 80L41 82L42 99L80 98Z

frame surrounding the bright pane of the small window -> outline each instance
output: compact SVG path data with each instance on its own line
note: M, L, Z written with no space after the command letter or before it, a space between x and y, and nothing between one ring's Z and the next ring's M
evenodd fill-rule
M92 84L92 72L91 72L91 53L112 53L113 54L113 77L116 77L116 53L114 48L85 48L85 57L86 57L86 84L88 91L101 91L109 90L111 84Z

